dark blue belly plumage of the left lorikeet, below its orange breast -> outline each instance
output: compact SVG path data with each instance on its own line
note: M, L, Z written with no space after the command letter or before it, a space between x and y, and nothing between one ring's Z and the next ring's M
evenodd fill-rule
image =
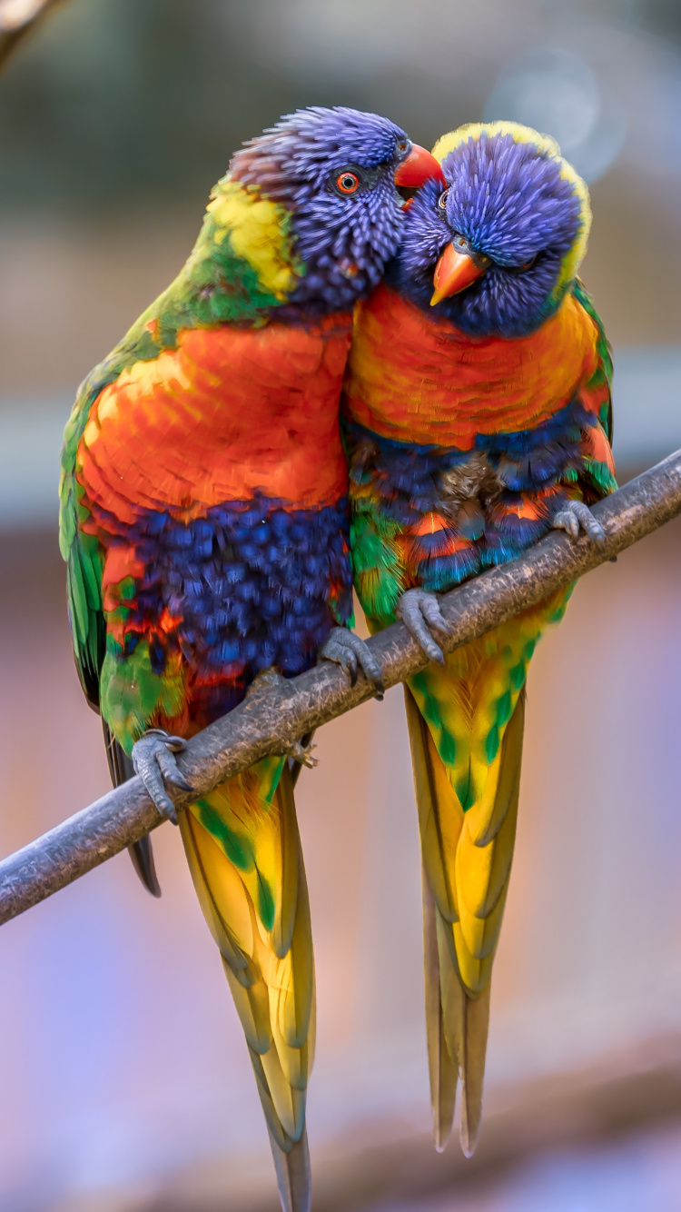
M190 522L149 511L131 539L144 574L128 602L126 651L147 635L162 675L179 648L201 722L235 707L263 669L309 669L331 628L351 618L345 501L287 510L258 496Z

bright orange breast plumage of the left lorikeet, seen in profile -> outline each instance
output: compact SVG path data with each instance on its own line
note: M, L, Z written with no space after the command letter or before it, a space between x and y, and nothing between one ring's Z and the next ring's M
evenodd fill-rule
M78 452L86 497L120 521L189 520L256 492L297 508L347 487L338 400L349 324L191 328L95 400Z

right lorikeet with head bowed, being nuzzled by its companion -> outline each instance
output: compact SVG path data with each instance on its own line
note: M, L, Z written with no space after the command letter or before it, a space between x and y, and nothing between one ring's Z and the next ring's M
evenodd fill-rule
M401 618L431 658L405 687L423 856L435 1142L462 1081L481 1117L490 982L515 840L525 682L571 589L447 657L436 594L551 527L594 542L616 487L612 361L577 270L584 182L510 122L434 148L385 281L357 307L344 401L355 587L373 631Z

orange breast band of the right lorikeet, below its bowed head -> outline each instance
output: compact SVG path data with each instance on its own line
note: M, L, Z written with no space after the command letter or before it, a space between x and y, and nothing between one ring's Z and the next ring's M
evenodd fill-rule
M384 438L470 450L476 434L531 429L568 404L596 339L572 296L528 337L468 337L379 286L357 307L343 407Z

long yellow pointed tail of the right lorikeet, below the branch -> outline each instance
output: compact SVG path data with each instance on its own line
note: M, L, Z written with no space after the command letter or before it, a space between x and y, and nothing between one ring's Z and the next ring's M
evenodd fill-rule
M460 1139L470 1156L480 1134L491 968L515 840L525 692L517 694L485 791L467 804L465 811L460 771L457 794L453 770L442 761L407 687L405 698L423 853L425 1017L435 1147L441 1151L450 1137L460 1080Z

